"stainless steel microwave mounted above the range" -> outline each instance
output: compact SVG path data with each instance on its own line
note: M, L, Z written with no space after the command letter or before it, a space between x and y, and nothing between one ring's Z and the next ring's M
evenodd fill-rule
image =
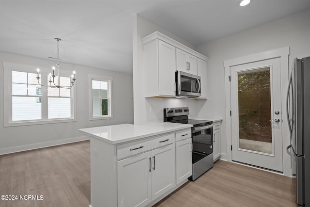
M201 96L200 76L175 71L175 96L198 97Z

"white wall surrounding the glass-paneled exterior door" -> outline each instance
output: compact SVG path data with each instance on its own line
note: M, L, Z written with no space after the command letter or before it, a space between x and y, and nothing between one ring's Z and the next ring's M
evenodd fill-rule
M225 81L224 61L263 52L267 50L290 47L290 67L295 57L310 56L310 9L285 16L257 27L237 32L226 37L196 47L196 50L209 57L208 86L209 101L200 112L211 116L223 117L222 127L222 158L228 159L226 121L225 120ZM288 71L287 71L288 72ZM282 86L286 88L286 86ZM282 104L283 107L285 104ZM285 110L283 108L283 110ZM228 120L229 121L229 120ZM286 120L283 120L286 127ZM284 134L284 143L289 143L289 137ZM224 155L224 156L223 156ZM283 149L284 174L289 175L290 158Z

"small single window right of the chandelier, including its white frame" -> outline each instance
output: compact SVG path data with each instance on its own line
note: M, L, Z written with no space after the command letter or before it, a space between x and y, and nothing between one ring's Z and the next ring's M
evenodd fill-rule
M112 80L110 77L89 75L90 120L113 118Z

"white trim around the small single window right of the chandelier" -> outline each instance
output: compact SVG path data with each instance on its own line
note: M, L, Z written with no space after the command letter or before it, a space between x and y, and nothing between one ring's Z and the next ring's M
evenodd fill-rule
M109 97L109 115L103 116L93 116L93 80L98 81L107 81L109 82L109 90L108 90L108 97ZM107 76L98 76L93 74L88 74L88 88L89 88L89 120L101 120L101 119L112 119L113 118L113 78Z

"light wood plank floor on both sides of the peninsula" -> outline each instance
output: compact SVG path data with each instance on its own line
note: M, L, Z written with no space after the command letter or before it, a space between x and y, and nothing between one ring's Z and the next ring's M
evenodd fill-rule
M0 156L0 195L43 195L2 201L0 207L88 207L90 142ZM292 179L219 160L158 207L295 207Z

